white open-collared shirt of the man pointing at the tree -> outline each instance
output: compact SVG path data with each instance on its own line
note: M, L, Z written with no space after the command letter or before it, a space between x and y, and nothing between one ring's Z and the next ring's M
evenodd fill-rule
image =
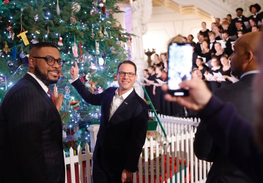
M134 88L132 87L129 91L127 91L125 94L122 94L121 96L119 96L119 88L116 89L115 91L115 95L113 96L113 99L111 101L110 104L110 116L109 116L109 120L110 118L113 116L114 112L120 107L120 105L122 104L122 102L125 100L125 98L127 98L127 96L129 96L129 94L131 94L131 92L134 90Z

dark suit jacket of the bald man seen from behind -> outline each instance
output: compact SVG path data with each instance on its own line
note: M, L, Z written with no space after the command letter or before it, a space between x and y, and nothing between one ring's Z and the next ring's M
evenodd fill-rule
M236 113L252 123L254 110L252 107L252 79L256 74L248 74L238 82L217 89L214 94L223 102L231 102L236 107ZM207 130L207 125L201 121L194 140L195 155L202 160L212 161L212 167L207 176L208 182L252 182L246 172L240 171L224 152L214 142Z

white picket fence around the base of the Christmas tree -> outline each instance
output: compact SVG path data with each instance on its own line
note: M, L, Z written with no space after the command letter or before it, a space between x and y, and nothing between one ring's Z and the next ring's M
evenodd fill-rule
M152 116L151 113L149 115ZM143 152L139 159L139 170L137 173L134 173L133 182L205 183L211 163L198 160L193 152L193 140L196 126L198 126L199 123L198 120L162 115L160 115L159 119L167 133L167 137L165 138L163 136L162 130L158 125L157 131L162 137L155 140L153 140L153 138L147 140L146 138ZM91 126L94 126L94 130L89 128L89 130L91 130L91 151L93 151L98 125ZM74 155L73 149L70 150L69 157L65 157L64 153L65 166L66 164L70 164L72 183L75 183L74 163L78 163L78 182L91 182L90 160L92 159L92 153L89 152L88 144L85 146L85 151L86 154L81 154L81 149L78 147L77 155ZM82 161L86 161L86 170L84 172L86 180L83 180ZM171 165L169 163L170 161ZM181 163L179 161L181 161Z

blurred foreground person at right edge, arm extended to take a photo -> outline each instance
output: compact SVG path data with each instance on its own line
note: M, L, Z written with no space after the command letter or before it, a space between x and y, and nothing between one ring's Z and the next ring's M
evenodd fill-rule
M262 34L262 33L261 33ZM203 82L193 76L192 80L184 80L179 84L181 88L189 88L188 97L177 97L167 94L168 101L178 102L189 109L199 112L198 116L205 123L206 129L212 136L214 143L225 154L229 160L240 170L245 172L256 182L263 181L263 36L259 38L259 45L255 55L261 73L257 74L253 82L253 106L255 110L255 129L251 123L245 121L236 114L234 106L230 103L224 104L217 97L212 96ZM236 50L235 50L236 52ZM253 56L252 52L240 50L240 58ZM246 66L250 65L247 61ZM167 86L163 87L164 90ZM255 136L253 134L255 132ZM255 142L256 139L256 142ZM261 148L260 148L261 147Z

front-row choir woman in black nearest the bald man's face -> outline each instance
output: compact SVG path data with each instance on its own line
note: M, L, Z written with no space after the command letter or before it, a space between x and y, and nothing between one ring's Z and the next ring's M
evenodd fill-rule
M221 61L222 67L220 67L219 72L222 74L222 78L226 80L226 81L221 81L221 87L224 87L232 83L228 77L233 77L233 75L231 75L231 66L229 64L228 57L223 55L220 61Z

